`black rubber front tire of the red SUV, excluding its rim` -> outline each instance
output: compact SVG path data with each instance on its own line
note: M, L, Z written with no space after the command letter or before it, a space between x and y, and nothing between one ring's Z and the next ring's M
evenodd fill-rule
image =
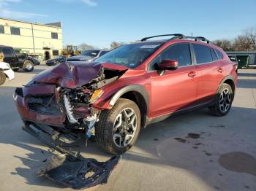
M129 139L130 141L126 142L127 145L124 147L118 147L115 144L113 139L113 125L115 124L118 114L120 114L125 109L128 109L128 110L132 109L134 111L133 113L136 114L137 120L135 120L133 124L136 124L137 128L135 128L135 130L133 131L135 133L132 139ZM130 118L131 117L127 119L129 120ZM140 109L138 108L137 104L135 104L135 102L130 101L129 99L124 99L124 98L119 98L112 109L101 112L99 116L99 122L97 122L95 125L95 136L96 136L97 144L103 150L113 155L121 155L122 153L130 149L135 144L135 141L138 139L139 132L140 132Z

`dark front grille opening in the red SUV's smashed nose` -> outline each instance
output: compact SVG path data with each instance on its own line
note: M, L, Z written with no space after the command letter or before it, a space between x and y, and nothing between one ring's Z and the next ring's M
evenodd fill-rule
M26 98L29 109L42 114L60 115L61 110L56 102L54 94L50 95L29 95Z

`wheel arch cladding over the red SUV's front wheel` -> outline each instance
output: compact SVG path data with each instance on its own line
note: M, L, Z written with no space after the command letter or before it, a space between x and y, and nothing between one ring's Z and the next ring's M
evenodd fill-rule
M127 98L134 101L140 109L141 122L140 126L144 127L146 125L146 118L148 116L148 93L142 85L128 85L123 87L121 90L113 95L110 100L110 105L116 104L118 98Z

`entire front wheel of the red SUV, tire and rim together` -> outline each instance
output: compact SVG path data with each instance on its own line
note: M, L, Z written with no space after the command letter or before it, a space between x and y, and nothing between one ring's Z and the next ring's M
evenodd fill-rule
M110 110L103 111L95 126L99 147L114 155L130 149L140 132L140 109L135 102L120 98Z

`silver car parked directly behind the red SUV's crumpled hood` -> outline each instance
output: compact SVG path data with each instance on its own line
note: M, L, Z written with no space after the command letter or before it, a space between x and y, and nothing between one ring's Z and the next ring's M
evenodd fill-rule
M67 61L87 61L91 62L102 55L105 55L108 50L85 50L80 55L75 55L67 58Z

